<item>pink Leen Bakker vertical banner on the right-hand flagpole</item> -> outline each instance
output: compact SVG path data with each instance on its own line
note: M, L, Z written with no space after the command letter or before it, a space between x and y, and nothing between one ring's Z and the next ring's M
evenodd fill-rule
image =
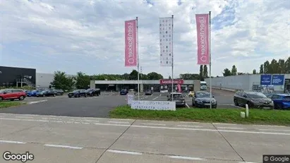
M196 14L195 18L198 32L198 65L207 65L210 64L209 14Z

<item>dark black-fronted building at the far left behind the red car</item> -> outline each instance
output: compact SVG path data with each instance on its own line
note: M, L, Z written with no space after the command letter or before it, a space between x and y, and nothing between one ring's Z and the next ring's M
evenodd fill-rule
M36 83L35 68L18 68L0 66L0 86L20 87L21 85L33 86Z

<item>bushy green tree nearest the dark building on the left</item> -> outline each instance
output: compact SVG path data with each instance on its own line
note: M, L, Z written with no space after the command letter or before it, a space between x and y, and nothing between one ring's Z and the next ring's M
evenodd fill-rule
M65 72L56 71L54 72L54 80L51 85L55 89L59 90L71 90L75 84L72 77L67 77Z

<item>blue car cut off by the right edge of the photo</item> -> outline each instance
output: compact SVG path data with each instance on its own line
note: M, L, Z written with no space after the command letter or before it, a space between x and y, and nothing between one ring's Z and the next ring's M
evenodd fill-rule
M290 109L289 94L271 94L267 95L274 103L274 109Z

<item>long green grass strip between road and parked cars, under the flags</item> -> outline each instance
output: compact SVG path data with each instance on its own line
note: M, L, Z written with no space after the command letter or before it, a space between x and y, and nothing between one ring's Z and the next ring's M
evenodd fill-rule
M116 107L110 111L114 119L148 119L163 121L200 121L219 123L267 124L290 126L290 111L250 109L249 117L242 119L241 111L246 109L176 109L176 111L137 110L128 106Z

